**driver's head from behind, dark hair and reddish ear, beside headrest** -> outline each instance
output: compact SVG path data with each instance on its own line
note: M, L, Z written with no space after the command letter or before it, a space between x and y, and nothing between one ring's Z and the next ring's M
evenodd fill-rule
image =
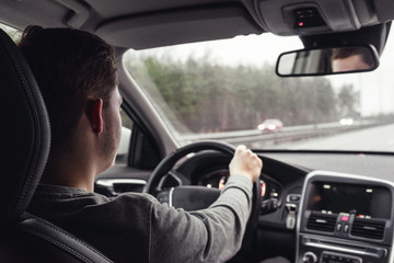
M92 136L97 135L94 144L100 145L101 155L113 159L120 134L121 101L113 48L88 32L39 26L24 31L19 48L32 68L48 110L50 155L72 151L76 141L83 141L78 138L82 135L79 129L83 119L88 123L83 126L85 130L91 128Z

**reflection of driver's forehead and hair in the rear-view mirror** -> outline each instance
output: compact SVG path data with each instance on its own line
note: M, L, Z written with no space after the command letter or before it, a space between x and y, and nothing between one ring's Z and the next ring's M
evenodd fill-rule
M371 55L364 48L334 48L332 55L333 72L370 69L373 66Z

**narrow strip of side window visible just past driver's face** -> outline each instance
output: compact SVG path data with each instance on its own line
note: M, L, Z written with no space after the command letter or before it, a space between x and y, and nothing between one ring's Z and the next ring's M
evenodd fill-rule
M131 138L131 129L132 129L132 121L125 113L125 111L120 112L121 117L121 137L120 137L120 146L118 152L116 155L115 164L116 165L127 165L127 159L130 147L130 138Z

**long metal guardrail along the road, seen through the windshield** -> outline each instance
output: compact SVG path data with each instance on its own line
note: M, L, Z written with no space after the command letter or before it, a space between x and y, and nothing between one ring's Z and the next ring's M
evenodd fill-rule
M182 140L187 144L194 140L224 140L230 144L244 144L254 148L257 146L279 145L296 140L309 139L314 137L331 136L339 133L376 127L389 123L376 121L356 121L352 125L341 125L339 123L326 123L316 125L302 125L285 127L276 133L262 133L260 130L236 130L215 134L188 134L182 135Z

